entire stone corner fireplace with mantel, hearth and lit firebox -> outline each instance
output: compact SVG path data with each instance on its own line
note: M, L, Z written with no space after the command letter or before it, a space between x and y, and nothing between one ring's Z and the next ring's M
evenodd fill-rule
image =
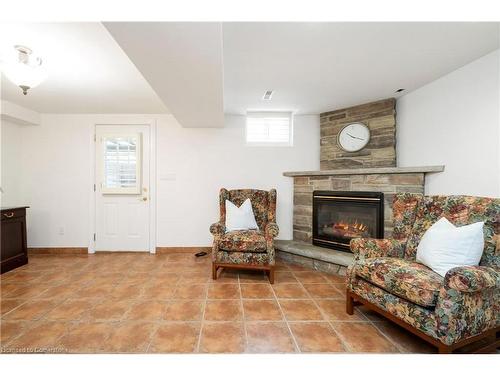
M361 151L346 152L337 136L353 122L364 123L371 137ZM283 173L293 178L293 240L276 241L276 250L288 261L342 274L353 259L350 237L390 237L394 195L425 193L426 175L444 166L397 166L394 98L322 113L320 131L320 170ZM357 194L379 197L378 208L351 204L348 210L354 199L345 198Z

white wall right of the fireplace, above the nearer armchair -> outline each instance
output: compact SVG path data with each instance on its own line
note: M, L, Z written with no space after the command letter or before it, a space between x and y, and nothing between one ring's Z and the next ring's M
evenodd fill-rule
M497 50L398 99L398 165L445 165L427 194L500 196L499 65Z

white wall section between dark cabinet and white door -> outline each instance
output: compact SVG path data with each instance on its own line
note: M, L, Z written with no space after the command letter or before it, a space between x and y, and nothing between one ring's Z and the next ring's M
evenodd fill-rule
M21 128L17 170L20 203L30 206L28 246L88 245L89 129L85 116L68 115L42 115L41 125Z

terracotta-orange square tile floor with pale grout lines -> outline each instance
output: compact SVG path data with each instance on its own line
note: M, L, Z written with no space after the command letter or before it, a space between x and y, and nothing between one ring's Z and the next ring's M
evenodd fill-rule
M278 261L210 275L176 253L34 255L1 276L4 353L429 353L364 308L345 313L343 277Z

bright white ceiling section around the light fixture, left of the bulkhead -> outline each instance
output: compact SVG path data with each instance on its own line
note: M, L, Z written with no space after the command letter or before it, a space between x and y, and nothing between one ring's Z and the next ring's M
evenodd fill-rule
M166 106L100 23L0 23L0 48L23 44L48 78L22 95L2 77L2 99L42 113L165 113Z

